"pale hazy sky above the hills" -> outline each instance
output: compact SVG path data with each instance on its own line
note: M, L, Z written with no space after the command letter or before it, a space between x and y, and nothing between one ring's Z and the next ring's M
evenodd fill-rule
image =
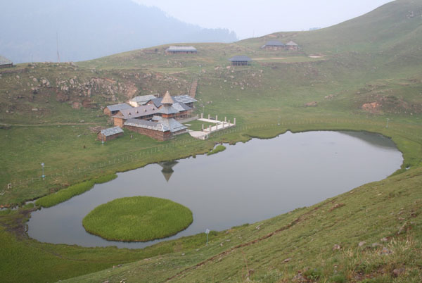
M133 0L201 27L234 30L239 39L328 27L392 0Z

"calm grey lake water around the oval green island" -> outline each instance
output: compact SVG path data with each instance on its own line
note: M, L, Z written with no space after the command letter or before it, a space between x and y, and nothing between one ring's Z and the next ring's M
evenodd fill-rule
M151 164L118 174L84 194L32 213L28 234L39 241L80 246L142 248L205 229L222 230L310 206L402 165L388 138L365 132L287 132L252 139L212 156ZM145 243L106 241L85 232L82 219L102 203L126 196L171 199L190 208L193 223L167 239Z

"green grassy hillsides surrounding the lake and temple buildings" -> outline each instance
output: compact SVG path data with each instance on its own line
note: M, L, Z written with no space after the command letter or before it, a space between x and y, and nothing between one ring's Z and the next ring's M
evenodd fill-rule
M167 46L157 46L76 65L23 64L15 69L22 73L1 74L1 204L207 153L215 142L275 137L286 130L380 132L404 154L402 169L392 177L271 220L213 232L207 247L204 235L136 251L43 244L25 234L33 208L5 210L0 238L8 244L0 250L7 255L1 274L14 282L81 275L70 281L421 281L421 13L420 1L399 0L322 30L194 44L198 54L170 56ZM269 39L293 40L301 50L260 49ZM254 58L252 64L230 67L227 59L241 54ZM187 135L156 142L129 132L105 146L95 141L93 127L110 125L102 107L167 89L186 94L197 78L196 112L236 118L235 132L206 142ZM43 182L37 179L41 162L48 176ZM6 189L11 181L23 184ZM51 270L40 268L50 265Z

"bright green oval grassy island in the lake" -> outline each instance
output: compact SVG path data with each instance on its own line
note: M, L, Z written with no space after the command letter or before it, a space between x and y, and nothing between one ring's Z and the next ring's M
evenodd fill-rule
M151 241L170 237L193 221L185 206L167 199L134 196L96 207L82 220L87 232L114 241Z

